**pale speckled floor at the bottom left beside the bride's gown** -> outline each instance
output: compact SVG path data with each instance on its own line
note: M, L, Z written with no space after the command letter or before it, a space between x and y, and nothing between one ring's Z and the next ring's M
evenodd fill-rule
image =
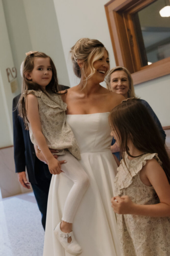
M0 256L43 256L43 244L44 229L33 193L0 197Z

